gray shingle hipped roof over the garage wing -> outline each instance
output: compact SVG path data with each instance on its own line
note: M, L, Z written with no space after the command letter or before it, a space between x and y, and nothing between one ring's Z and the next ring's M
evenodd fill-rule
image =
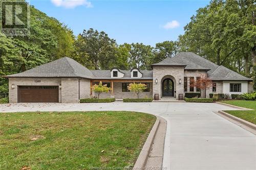
M68 57L63 57L27 71L6 77L80 77L91 79L93 75L88 68L82 66L75 60Z

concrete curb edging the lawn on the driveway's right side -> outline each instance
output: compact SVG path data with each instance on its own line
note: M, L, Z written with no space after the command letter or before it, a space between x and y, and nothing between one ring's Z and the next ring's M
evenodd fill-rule
M228 114L227 112L224 112L222 110L218 111L218 113L220 116L226 118L227 120L229 120L230 122L240 126L241 128L253 133L254 135L256 135L256 125L242 119L236 116L233 116L231 114Z

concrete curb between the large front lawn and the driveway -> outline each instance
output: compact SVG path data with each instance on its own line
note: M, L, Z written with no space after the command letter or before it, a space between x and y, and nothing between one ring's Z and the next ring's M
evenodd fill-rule
M143 145L142 150L140 151L139 157L137 158L137 161L136 161L133 169L136 169L136 170L137 169L145 169L146 166L148 166L148 162L152 162L148 158L150 158L151 152L154 149L156 149L155 147L153 147L153 145L157 144L157 147L159 147L159 144L160 144L160 145L162 145L162 149L164 148L164 144L156 143L156 140L155 140L156 134L159 133L158 129L159 129L160 123L162 122L160 120L163 119L159 116L156 116L156 117L157 117L156 122L155 122L150 134L148 135L148 137ZM166 124L166 122L165 122L165 124ZM166 128L165 128L164 134L165 133L166 133ZM161 148L157 148L157 149L161 150ZM162 157L163 157L163 154L162 154ZM154 164L154 161L152 163L150 163L150 165L154 166L154 167L159 166L158 163ZM161 165L162 165L162 161L161 161Z

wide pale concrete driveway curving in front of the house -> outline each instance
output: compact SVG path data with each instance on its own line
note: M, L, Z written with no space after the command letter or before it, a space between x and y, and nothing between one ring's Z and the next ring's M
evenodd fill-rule
M139 111L167 120L166 169L256 169L256 136L214 112L234 110L214 103L5 104L0 112Z

